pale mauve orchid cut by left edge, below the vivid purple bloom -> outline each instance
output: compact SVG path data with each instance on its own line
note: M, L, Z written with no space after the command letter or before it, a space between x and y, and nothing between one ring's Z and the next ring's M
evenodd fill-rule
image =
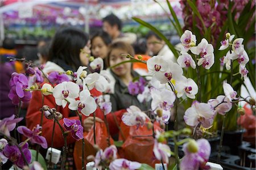
M0 120L0 132L6 136L10 136L10 131L14 130L16 123L20 122L23 118L14 119L15 115L11 115L9 118Z

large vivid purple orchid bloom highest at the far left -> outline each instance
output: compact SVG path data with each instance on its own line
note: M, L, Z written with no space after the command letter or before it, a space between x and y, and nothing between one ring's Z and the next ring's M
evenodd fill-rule
M10 92L9 98L13 101L14 105L18 105L19 100L23 102L28 102L32 98L31 92L27 92L26 88L28 88L28 80L24 74L13 73L11 74L10 84Z

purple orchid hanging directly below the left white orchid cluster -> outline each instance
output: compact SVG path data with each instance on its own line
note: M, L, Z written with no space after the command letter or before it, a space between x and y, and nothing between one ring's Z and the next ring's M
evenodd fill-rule
M84 127L81 126L81 122L79 120L72 120L72 119L63 119L63 127L67 131L71 131L71 135L74 139L80 140L84 138Z

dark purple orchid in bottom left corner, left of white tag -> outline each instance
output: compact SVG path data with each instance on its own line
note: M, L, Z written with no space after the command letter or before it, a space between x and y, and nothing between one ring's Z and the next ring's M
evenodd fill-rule
M32 154L31 151L28 150L28 143L20 143L19 146L22 147L21 150L24 154L24 157L27 160L27 163L30 164L32 160ZM8 157L9 160L17 165L19 168L24 167L25 161L23 159L22 153L17 146L10 146L9 144L7 144L5 146L5 149L3 150L3 155Z

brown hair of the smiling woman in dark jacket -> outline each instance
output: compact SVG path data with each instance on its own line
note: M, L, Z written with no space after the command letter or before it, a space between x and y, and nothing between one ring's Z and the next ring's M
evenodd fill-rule
M125 42L115 42L113 44L110 44L108 56L106 57L107 67L109 67L109 65L110 65L109 57L110 57L110 53L113 51L113 49L123 49L123 50L127 51L127 53L129 53L129 55L134 56L134 49L130 44L127 44Z

